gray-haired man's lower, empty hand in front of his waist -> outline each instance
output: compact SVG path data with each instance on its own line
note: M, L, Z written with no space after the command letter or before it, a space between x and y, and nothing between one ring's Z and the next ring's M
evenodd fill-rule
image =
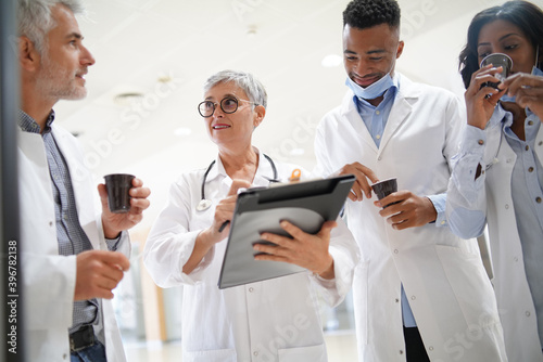
M113 298L112 289L123 279L130 262L124 254L88 250L77 255L74 300Z

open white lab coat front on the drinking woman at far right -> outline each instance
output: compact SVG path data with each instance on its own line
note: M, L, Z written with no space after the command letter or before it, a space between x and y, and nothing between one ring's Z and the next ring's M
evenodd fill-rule
M483 160L484 189L475 205L468 205L454 182L450 183L447 216L457 208L480 210L487 216L492 280L504 328L509 361L543 362L533 299L526 277L522 245L518 235L512 197L513 168L517 156L502 132L503 124L487 127ZM535 153L543 160L543 127L535 139ZM494 160L497 159L497 163Z

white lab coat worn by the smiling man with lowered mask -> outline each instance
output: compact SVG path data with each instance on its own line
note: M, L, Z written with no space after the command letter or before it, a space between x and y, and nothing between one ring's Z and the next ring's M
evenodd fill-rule
M317 128L317 171L328 174L359 161L399 190L446 191L447 159L464 122L450 92L399 75L400 89L380 148L348 91ZM403 283L431 361L503 361L503 332L492 286L475 241L429 223L396 231L371 199L349 202L348 224L362 254L353 282L358 355L364 362L405 361Z

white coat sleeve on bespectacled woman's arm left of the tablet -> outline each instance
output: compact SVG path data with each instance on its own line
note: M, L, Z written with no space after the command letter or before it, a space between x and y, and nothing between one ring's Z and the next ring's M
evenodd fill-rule
M214 256L212 248L190 275L182 272L201 232L189 230L189 185L180 179L171 186L166 207L154 222L143 249L143 262L161 287L193 285L202 281Z

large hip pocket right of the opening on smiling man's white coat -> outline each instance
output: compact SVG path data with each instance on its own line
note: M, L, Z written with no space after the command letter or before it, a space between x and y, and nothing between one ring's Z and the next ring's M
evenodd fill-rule
M466 323L484 328L498 322L492 285L481 257L460 247L435 245Z

